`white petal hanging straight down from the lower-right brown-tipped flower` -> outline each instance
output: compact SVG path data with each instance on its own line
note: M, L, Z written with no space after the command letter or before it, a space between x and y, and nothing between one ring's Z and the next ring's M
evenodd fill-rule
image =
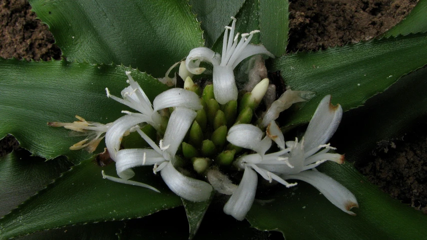
M256 172L249 167L245 167L239 186L225 203L224 212L232 215L237 220L245 219L246 213L248 213L255 199L257 183L258 176Z

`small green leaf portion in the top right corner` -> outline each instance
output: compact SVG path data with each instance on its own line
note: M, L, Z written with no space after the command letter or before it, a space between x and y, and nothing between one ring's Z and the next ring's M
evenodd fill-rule
M427 31L427 0L419 0L411 12L384 33L384 36L406 35L409 33Z

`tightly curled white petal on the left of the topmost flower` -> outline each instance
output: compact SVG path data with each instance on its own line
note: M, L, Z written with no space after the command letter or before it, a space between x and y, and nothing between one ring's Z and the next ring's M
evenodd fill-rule
M196 60L196 61L194 61ZM187 70L193 74L201 74L205 71L204 67L199 67L200 61L209 61L212 65L219 65L220 56L207 47L196 47L188 53L185 64Z

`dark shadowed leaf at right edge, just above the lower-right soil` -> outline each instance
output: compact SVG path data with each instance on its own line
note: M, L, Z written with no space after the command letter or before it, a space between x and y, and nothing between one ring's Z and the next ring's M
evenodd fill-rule
M403 76L385 92L344 114L332 145L345 152L346 157L361 161L378 141L407 132L427 116L425 89L427 68Z

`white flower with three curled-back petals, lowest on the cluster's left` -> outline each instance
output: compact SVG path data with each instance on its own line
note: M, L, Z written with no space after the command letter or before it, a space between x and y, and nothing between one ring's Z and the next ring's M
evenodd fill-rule
M164 139L160 141L160 146L157 146L153 140L138 128L138 133L153 149L119 150L115 156L117 174L127 180L134 175L130 169L131 167L154 164L153 171L155 173L160 171L165 183L177 195L191 201L208 199L212 191L212 186L209 183L185 176L176 170L173 165L178 146L184 139L195 117L196 112L194 110L176 107L171 114ZM129 123L129 125L132 124Z

